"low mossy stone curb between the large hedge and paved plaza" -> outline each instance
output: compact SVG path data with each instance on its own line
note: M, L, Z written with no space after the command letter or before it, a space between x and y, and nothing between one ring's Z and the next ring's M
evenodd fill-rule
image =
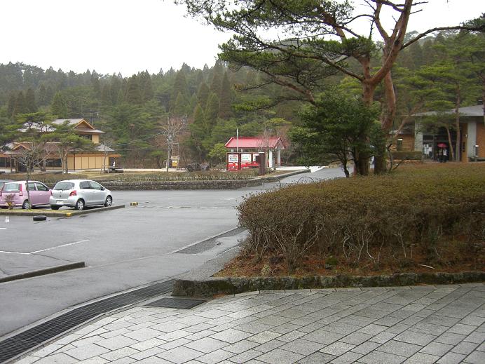
M399 273L389 276L301 276L301 277L221 277L191 281L177 279L173 296L214 297L261 290L301 290L311 288L391 287L421 284L484 282L485 271L460 273Z

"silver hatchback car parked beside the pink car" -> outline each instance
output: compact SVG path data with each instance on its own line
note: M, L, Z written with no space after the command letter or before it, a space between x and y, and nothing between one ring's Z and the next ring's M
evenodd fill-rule
M111 206L111 191L91 180L64 180L57 182L50 196L49 204L53 210L62 206L84 210L86 206Z

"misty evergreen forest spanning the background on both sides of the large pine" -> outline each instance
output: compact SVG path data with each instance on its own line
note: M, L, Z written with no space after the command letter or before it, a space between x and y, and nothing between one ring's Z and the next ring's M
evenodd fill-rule
M392 69L397 95L392 130L406 128L409 116L417 112L481 103L484 53L485 34L456 31L427 36L404 48ZM380 62L378 54L372 60L375 66ZM352 62L348 60L350 69ZM355 72L358 69L355 62ZM362 92L355 80L336 70L313 87L320 93L339 88L356 97ZM384 97L381 88L376 89L375 102ZM25 114L83 118L105 132L102 143L121 154L127 168L163 168L168 148L165 130L174 120L182 128L175 135L172 155L179 156L182 166L224 163L224 143L237 129L241 136L282 137L287 144L282 163L301 163L299 149L289 135L302 125L305 107L307 100L272 82L264 72L222 60L203 69L184 64L178 70L132 76L89 69L76 74L23 63L0 65L1 144L11 141L13 136L5 130ZM446 127L453 128L453 122Z

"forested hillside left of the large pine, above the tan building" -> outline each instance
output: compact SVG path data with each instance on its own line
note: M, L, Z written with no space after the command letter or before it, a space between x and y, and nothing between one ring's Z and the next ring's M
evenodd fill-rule
M38 111L59 119L84 118L106 132L103 142L122 154L125 166L161 168L167 150L164 128L169 120L184 118L186 127L177 135L172 154L180 154L182 163L219 163L225 158L220 144L237 128L241 135L259 135L265 129L284 135L297 120L298 107L291 102L254 107L259 95L279 90L237 91L259 77L251 69L231 70L224 62L203 69L184 64L177 71L130 77L9 63L0 65L0 128ZM11 137L2 134L2 142Z

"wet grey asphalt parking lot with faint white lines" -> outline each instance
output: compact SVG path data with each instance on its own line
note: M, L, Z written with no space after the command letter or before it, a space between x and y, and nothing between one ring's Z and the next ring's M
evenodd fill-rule
M339 168L312 173L336 177ZM282 181L292 183L299 176ZM0 283L0 338L50 315L139 285L185 274L238 245L243 234L186 253L184 247L235 229L242 197L279 184L237 190L114 191L119 210L73 217L0 220L0 274L67 262L86 268ZM138 202L130 206L130 202Z

